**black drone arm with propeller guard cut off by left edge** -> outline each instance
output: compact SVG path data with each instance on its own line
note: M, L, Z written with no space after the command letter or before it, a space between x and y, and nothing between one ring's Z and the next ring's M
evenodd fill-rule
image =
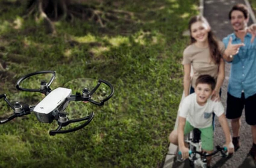
M0 119L0 124L4 124L12 119L24 115L30 114L33 111L34 107L29 107L28 105L24 105L23 107L17 102L14 106L11 105L10 101L7 99L5 94L0 95L0 99L4 98L5 102L13 109L13 115L9 116L5 119Z

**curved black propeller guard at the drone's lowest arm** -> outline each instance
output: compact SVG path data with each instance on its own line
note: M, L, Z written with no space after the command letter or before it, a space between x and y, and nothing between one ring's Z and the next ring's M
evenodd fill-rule
M86 116L84 118L68 120L67 122L64 122L64 123L58 122L58 124L59 124L58 128L56 130L51 130L49 132L49 134L50 135L65 134L65 133L69 133L69 132L74 132L74 131L80 130L80 129L84 128L86 125L88 125L92 121L93 116L94 116L94 113L92 112L92 114L90 116ZM71 129L68 129L68 130L61 130L62 127L67 126L70 123L81 122L81 121L84 121L84 120L87 120L87 121L84 124L79 125L78 127L71 128Z

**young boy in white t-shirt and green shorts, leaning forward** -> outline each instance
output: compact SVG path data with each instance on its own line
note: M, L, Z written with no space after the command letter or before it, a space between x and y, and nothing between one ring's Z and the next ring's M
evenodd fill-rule
M189 149L184 143L184 134L188 134L194 128L198 128L201 131L202 149L207 153L213 151L213 112L218 116L220 125L225 133L226 143L224 146L227 147L229 153L234 152L224 108L220 101L215 102L210 99L214 87L215 80L213 77L201 75L196 80L195 93L188 95L182 102L178 130L174 129L171 132L169 140L171 143L179 145L183 159L189 157ZM210 159L208 157L208 166L210 166Z

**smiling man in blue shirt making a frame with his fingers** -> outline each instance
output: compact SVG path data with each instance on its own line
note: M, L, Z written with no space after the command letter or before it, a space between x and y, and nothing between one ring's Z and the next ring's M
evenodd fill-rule
M226 50L223 58L231 62L227 93L226 118L231 119L233 144L239 149L239 130L242 110L251 125L253 145L250 154L256 161L256 25L247 27L248 9L244 4L236 4L229 12L234 33L223 39Z

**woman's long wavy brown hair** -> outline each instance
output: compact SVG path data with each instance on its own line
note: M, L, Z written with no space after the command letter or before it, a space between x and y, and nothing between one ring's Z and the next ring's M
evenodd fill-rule
M195 38L193 38L192 35L191 35L191 25L195 22L198 22L198 21L206 23L209 26L209 23L204 18L204 16L194 16L194 17L192 17L189 21L189 32L190 32L190 42L191 42L191 44L196 42ZM218 43L216 41L216 38L214 37L212 31L208 32L208 43L209 43L211 59L214 61L215 64L220 64L221 53L220 53L220 49L219 49Z

